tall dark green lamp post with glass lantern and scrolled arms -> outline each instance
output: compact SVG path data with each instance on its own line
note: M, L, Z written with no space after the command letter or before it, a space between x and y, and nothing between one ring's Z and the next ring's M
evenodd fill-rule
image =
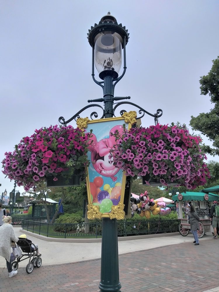
M104 108L99 104L91 104L83 107L72 118L65 121L64 117L59 118L59 123L66 126L70 121L77 121L80 113L90 107L98 107L103 110L100 119L116 117L115 110L120 105L128 104L138 108L139 117L142 118L145 113L154 117L155 124L162 115L162 110L157 109L155 114L147 112L145 109L135 103L123 101L118 102L114 106L114 101L130 99L126 97L114 97L115 85L121 80L126 72L126 44L129 39L128 30L121 23L118 24L114 16L108 12L103 16L99 24L92 26L88 30L88 42L92 47L92 78L93 81L102 87L103 98L88 100L88 102L104 102ZM119 70L122 67L122 51L123 51L123 73L119 77ZM94 64L102 81L97 81L94 74ZM121 110L122 115L126 110ZM97 118L97 112L92 112L93 117ZM126 182L128 181L128 177ZM129 178L130 181L130 178ZM126 202L128 205L129 202ZM117 235L117 219L102 218L102 252L101 252L101 276L100 285L101 292L119 292L121 284L119 281L119 256L118 256L118 235Z

